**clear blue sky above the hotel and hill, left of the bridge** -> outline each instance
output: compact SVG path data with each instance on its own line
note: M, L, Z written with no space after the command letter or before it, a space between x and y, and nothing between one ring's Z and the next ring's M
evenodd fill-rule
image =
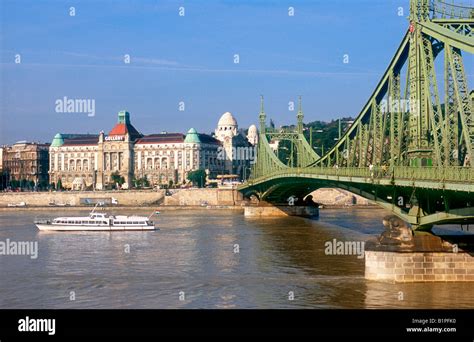
M247 128L260 95L277 126L295 122L299 95L306 122L355 117L408 3L0 0L0 144L108 132L120 110L144 134L210 133L227 111ZM64 97L93 100L94 115L61 112Z

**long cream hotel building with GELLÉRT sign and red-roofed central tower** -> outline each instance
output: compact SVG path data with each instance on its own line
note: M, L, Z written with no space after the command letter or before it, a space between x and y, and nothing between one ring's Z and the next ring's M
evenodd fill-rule
M186 135L143 135L131 124L130 114L121 111L107 135L56 134L49 150L50 182L67 189L100 190L113 185L118 175L125 189L144 178L151 186L184 184L190 171L204 169L212 177L223 169L220 146L193 128Z

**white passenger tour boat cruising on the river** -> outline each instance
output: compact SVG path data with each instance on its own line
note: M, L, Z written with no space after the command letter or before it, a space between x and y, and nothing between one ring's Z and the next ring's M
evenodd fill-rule
M97 207L97 206L96 206ZM123 216L95 213L89 216L57 217L52 220L35 221L39 230L56 231L124 231L124 230L155 230L155 224L146 216ZM155 214L155 213L154 213Z

